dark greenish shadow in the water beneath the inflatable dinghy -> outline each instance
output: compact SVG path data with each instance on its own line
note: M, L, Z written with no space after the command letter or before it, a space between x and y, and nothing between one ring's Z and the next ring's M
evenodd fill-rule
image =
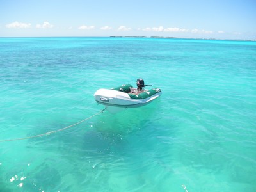
M85 154L109 154L120 152L129 145L128 138L140 134L157 124L157 102L142 108L129 108L115 115L104 113L98 116L90 129L83 135ZM146 131L147 132L147 131Z

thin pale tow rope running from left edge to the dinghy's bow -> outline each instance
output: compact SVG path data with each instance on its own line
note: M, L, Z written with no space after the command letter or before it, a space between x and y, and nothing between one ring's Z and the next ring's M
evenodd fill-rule
M6 141L17 141L17 140L28 140L28 139L31 139L31 138L39 138L39 137L42 137L42 136L47 136L47 135L50 135L52 133L55 133L55 132L60 132L60 131L64 131L65 129L68 129L70 127L74 127L75 125L78 125L78 124L81 124L82 122L85 122L86 120L89 120L90 118L93 118L93 116L96 116L96 115L99 115L100 113L103 113L103 111L105 111L105 109L102 109L100 112L88 117L88 118L85 118L84 120L81 120L80 122L77 122L76 124L72 124L72 125L69 125L67 127L64 127L62 129L58 129L56 131L49 131L49 132L45 132L43 134L38 134L38 135L34 135L34 136L29 136L29 137L26 137L26 138L16 138L16 139L10 139L10 140L0 140L0 143L1 142L6 142Z

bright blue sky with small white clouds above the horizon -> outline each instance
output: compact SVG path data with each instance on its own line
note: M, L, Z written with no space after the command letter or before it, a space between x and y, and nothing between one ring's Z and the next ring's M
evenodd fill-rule
M0 0L0 36L256 40L256 0Z

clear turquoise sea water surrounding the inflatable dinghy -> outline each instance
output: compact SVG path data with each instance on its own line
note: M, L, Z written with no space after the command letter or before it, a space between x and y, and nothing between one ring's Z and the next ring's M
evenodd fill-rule
M0 38L0 140L104 109L136 79L148 106L0 143L0 191L256 191L256 42Z

